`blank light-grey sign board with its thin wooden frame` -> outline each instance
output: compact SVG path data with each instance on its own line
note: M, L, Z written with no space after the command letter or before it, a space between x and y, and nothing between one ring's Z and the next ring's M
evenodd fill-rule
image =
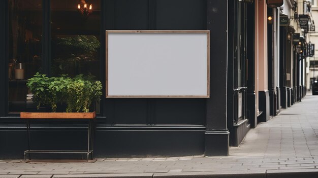
M209 97L209 31L106 31L106 97Z

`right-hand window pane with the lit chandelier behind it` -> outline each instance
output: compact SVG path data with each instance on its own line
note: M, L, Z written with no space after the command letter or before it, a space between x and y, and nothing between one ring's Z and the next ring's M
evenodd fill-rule
M52 0L52 76L99 79L100 1Z

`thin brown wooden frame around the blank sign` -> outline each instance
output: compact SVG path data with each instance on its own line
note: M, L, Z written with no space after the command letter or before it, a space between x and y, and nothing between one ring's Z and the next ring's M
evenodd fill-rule
M110 33L207 33L207 92L206 95L109 95L109 51ZM106 98L209 98L210 97L210 30L106 30Z

